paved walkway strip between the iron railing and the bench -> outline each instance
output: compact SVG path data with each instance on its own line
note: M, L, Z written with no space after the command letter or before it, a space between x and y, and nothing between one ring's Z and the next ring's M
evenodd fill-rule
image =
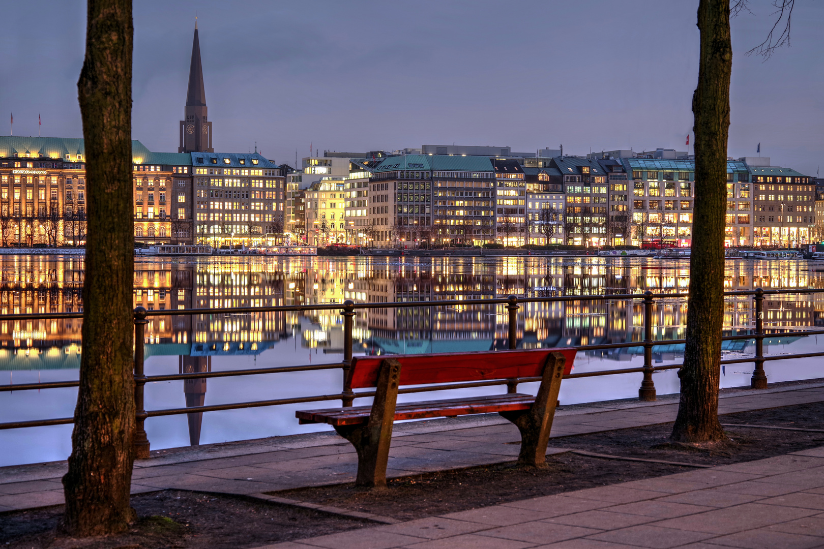
M764 390L728 389L719 413L824 401L824 383L781 384ZM552 436L577 435L673 421L677 395L658 402L596 402L563 407ZM498 415L415 421L395 426L390 477L514 461L517 428ZM561 453L568 449L553 449ZM152 452L135 463L133 493L166 488L260 494L302 486L352 482L357 456L335 433L293 435L194 449ZM0 468L0 511L63 503L65 462Z

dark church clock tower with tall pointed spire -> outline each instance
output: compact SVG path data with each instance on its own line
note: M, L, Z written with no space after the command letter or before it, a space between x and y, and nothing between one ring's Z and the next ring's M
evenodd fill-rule
M180 147L178 152L214 152L212 123L208 121L204 70L200 64L198 24L194 22L192 63L189 67L189 91L186 93L185 120L180 120Z

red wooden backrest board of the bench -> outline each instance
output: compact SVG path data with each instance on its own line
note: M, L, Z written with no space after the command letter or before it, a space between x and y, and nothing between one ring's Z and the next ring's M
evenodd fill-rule
M566 358L564 374L572 371L574 348L515 351L450 352L434 355L358 356L352 360L349 379L352 388L375 387L381 361L400 361L400 384L421 385L540 377L546 357L559 351Z

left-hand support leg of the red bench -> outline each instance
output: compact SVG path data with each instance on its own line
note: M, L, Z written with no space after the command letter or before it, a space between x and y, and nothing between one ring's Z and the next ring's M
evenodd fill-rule
M392 358L382 361L368 423L335 426L338 434L349 440L358 452L355 486L386 486L386 463L389 461L399 380L400 361Z

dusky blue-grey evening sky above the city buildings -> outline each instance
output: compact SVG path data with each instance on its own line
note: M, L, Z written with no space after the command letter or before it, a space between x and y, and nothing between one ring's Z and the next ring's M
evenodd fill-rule
M824 164L824 2L799 0L792 42L745 53L770 0L733 19L729 156ZM349 0L134 3L133 138L177 151L194 17L216 151L293 165L310 146L489 145L567 154L686 150L697 0ZM0 114L16 135L82 137L85 2L3 9ZM4 114L3 114L4 113ZM2 117L0 117L2 120ZM0 132L7 133L7 124ZM691 140L691 142L693 142Z

